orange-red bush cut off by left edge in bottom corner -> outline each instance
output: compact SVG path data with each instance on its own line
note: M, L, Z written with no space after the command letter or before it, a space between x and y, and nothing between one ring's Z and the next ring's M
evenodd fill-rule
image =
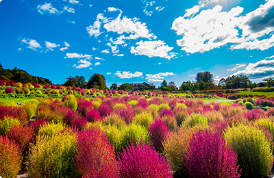
M18 146L7 137L0 136L0 177L16 177L22 160Z

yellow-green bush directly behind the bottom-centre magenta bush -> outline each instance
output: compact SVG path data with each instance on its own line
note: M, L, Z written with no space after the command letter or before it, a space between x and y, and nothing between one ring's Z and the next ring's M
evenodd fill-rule
M145 142L148 144L150 142L149 131L141 125L130 124L121 128L121 138L119 140L120 145L116 151L122 151L131 143L136 145L137 142Z

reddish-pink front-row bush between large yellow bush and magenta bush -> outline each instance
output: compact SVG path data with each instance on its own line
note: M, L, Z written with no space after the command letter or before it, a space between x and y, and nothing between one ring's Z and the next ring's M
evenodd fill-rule
M120 177L114 148L104 133L86 129L77 138L75 165L83 177Z

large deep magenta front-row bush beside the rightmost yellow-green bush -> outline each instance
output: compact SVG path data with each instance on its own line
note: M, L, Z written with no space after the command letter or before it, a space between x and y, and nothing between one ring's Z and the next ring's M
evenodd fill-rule
M219 133L197 131L190 139L185 157L184 166L190 177L240 177L237 155Z

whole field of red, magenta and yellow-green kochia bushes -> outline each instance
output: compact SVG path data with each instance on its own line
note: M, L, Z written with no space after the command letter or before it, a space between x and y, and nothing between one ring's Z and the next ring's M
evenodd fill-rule
M198 94L80 90L59 92L62 101L0 102L0 177L267 177L271 171L272 97L206 104Z

